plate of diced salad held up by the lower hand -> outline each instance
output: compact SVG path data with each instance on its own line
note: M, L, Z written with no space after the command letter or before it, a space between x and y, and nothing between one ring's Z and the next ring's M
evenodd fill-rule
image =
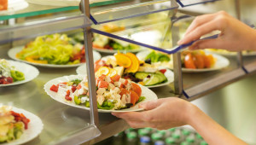
M84 75L54 78L44 84L44 90L57 102L90 110L88 80ZM120 78L118 74L96 77L96 101L100 113L141 111L139 102L156 99L152 90Z

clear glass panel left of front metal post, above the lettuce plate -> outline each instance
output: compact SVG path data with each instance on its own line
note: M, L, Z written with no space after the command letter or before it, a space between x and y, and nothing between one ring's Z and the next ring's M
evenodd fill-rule
M0 44L56 32L67 32L90 25L89 18L84 14L74 13L51 16L51 19L32 20L15 26L2 26L0 27Z

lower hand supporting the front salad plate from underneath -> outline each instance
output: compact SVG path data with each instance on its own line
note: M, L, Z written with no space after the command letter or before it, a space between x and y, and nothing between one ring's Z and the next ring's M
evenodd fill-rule
M152 127L159 130L189 124L189 115L195 107L176 97L163 98L139 104L143 112L112 113L125 119L132 128Z

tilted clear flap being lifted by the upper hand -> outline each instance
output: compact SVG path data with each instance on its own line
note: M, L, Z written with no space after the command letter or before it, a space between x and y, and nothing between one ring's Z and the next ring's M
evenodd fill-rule
M166 11L156 14L148 14L141 17L129 19L129 22L111 22L93 27L92 32L105 35L109 38L125 41L126 43L137 44L143 48L159 50L167 54L172 54L172 29L178 30L175 35L177 40L182 37L183 32L189 26L192 18L181 15L171 20L174 12ZM182 20L182 21L181 21ZM175 21L175 22L173 22ZM123 27L119 31L111 32L105 30L106 27Z

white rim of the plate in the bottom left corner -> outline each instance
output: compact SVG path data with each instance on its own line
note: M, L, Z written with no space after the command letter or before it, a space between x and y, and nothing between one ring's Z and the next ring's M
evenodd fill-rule
M19 142L20 138L22 137L22 136L20 136L19 139L13 140L13 141L11 141L11 142L4 142L4 143L1 143L1 145L15 145L15 144L23 144L23 143L26 143L26 142L30 142L30 141L32 141L33 139L35 139L37 136L39 136L39 135L41 134L41 132L44 130L44 123L43 123L42 119L40 119L40 118L39 118L37 115L35 115L34 113L31 113L31 112L29 112L29 111L27 111L27 110L25 110L25 109L23 109L23 108L13 107L13 106L12 106L12 109L11 109L11 110L15 111L16 113L23 113L26 117L27 117L27 116L32 116L32 118L28 118L28 119L31 120L30 123L32 123L32 120L35 120L34 125L37 125L37 128L28 128L28 129L27 129L27 130L29 130L29 131L32 131L32 134L31 134L32 136L31 136L30 138L26 138L25 140ZM32 127L32 126L31 126L31 127ZM37 129L37 130L35 130L35 129ZM38 130L38 129L39 129L39 130ZM27 130L25 130L22 135L24 135L26 132L28 132ZM35 134L35 132L36 132L37 134ZM17 142L17 141L18 141L18 142Z

